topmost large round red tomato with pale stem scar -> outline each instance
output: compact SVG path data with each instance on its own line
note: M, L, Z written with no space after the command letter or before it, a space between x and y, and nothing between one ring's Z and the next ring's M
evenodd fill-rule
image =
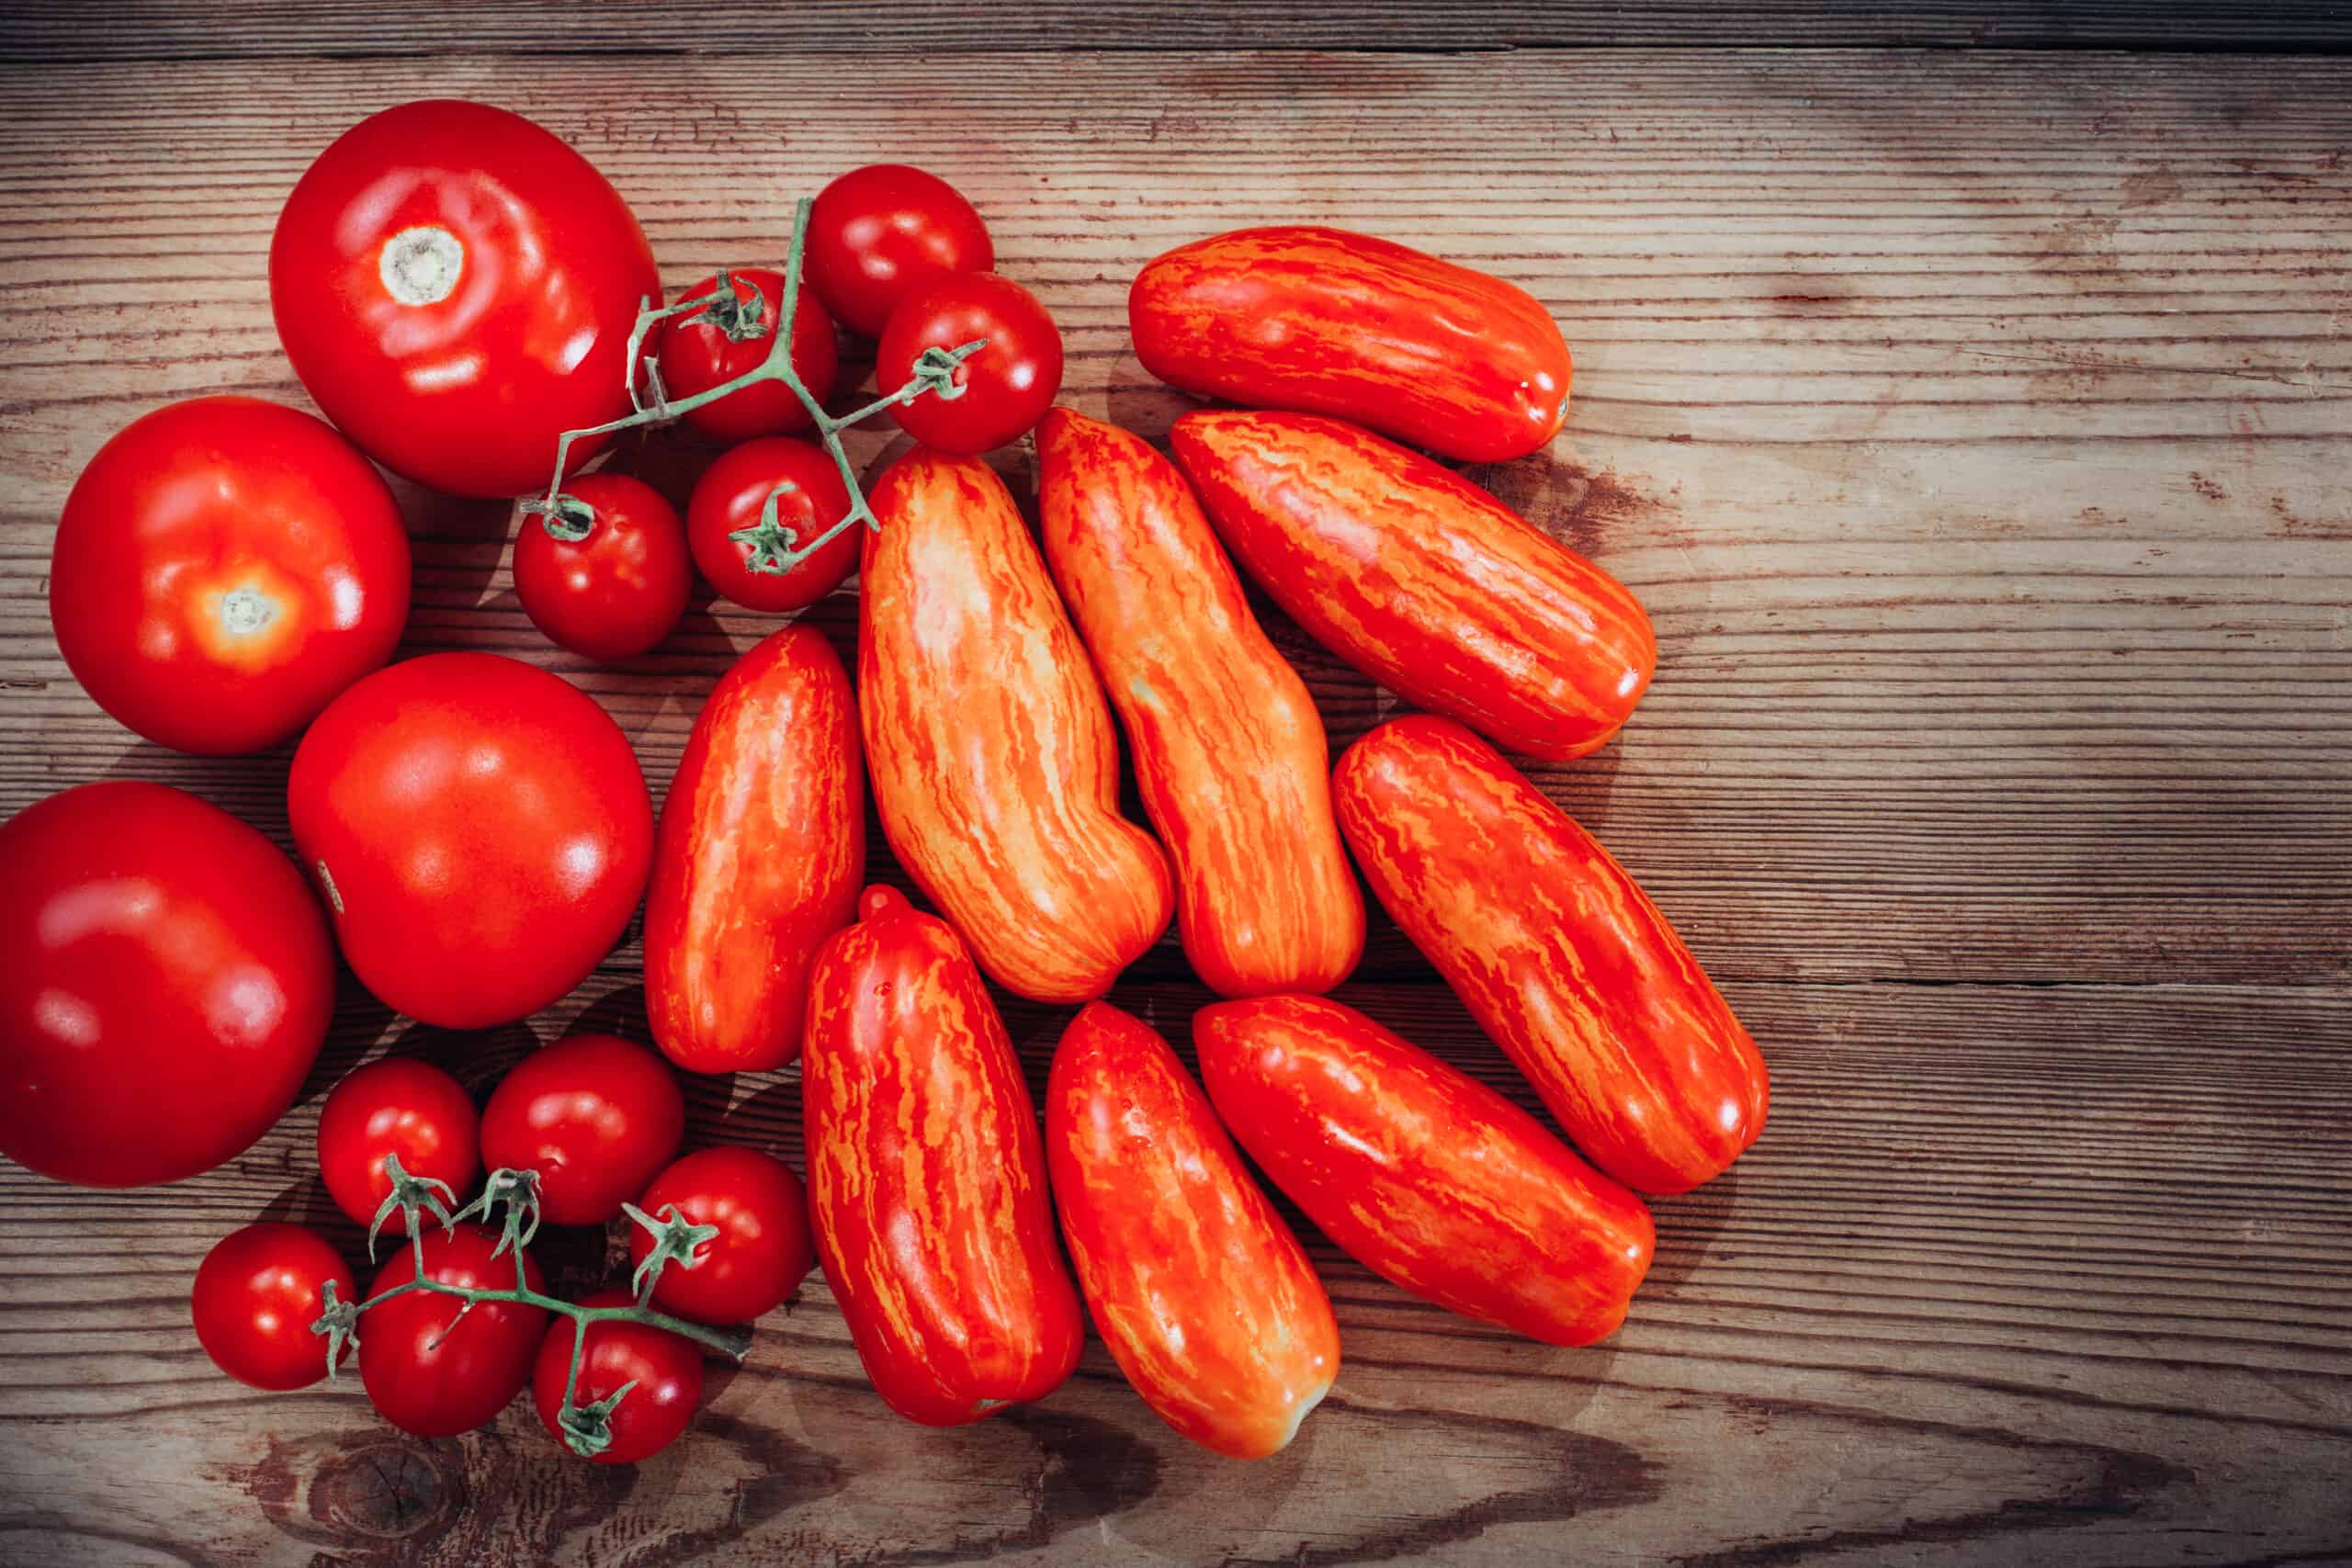
M270 237L270 313L310 397L367 456L459 496L546 489L557 435L628 414L640 303L661 277L628 202L487 103L369 115Z

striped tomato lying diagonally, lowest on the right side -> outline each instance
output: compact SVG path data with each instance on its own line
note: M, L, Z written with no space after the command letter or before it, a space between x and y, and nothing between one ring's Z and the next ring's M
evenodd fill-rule
M1470 1074L1324 997L1218 1001L1192 1046L1240 1145L1374 1274L1548 1345L1625 1321L1649 1208Z

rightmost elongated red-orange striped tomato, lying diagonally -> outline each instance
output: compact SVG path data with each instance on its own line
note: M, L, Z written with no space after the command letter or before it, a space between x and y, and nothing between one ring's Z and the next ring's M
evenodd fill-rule
M1576 1147L1689 1192L1764 1131L1764 1058L1625 867L1461 724L1383 724L1341 757L1374 893Z

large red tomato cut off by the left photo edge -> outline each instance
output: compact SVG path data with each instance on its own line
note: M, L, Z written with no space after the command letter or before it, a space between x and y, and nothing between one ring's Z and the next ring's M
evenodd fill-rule
M82 1187L242 1154L334 1013L301 872L155 783L80 785L0 825L0 1152Z

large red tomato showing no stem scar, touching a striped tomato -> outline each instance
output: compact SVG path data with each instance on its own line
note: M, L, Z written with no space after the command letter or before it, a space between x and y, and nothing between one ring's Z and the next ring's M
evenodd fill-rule
M350 969L449 1030L527 1018L579 985L654 860L621 726L496 654L409 658L339 696L294 750L287 809Z

